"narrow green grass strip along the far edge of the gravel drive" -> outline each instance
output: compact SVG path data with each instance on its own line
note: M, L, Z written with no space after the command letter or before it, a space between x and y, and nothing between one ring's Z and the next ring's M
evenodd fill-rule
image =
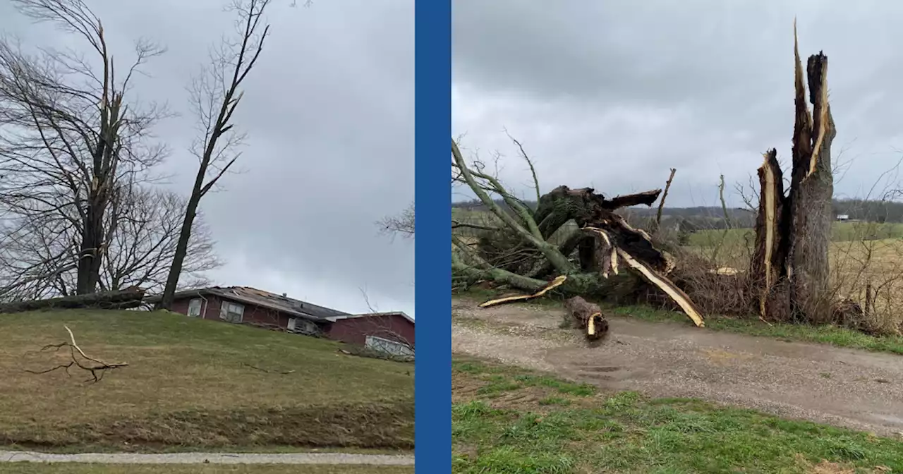
M486 301L498 296L498 292L492 290L469 290L467 292L455 292L457 296L471 298L475 301ZM553 297L543 297L531 300L530 304L541 304L550 308L560 309L562 302ZM643 321L672 321L688 326L693 323L682 312L660 311L649 306L601 304L603 310L609 315L618 315L636 318ZM852 349L872 350L876 352L890 352L903 355L903 337L901 336L870 336L856 330L848 330L836 326L811 326L806 324L771 323L770 325L756 319L738 319L721 316L718 314L705 315L705 328L700 330L725 330L750 336L796 340L803 342L816 342L831 344L833 346Z

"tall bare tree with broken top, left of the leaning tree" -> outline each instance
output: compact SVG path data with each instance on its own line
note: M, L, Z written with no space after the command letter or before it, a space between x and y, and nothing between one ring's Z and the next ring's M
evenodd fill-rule
M70 33L88 53L44 48L29 54L0 40L0 206L7 218L20 218L7 230L33 235L47 228L44 237L52 240L44 242L49 260L19 268L26 278L46 281L45 274L74 263L75 292L93 293L115 231L105 222L120 183L159 163L166 151L150 135L165 107L126 99L131 79L163 49L135 42L123 73L100 18L81 0L13 3L34 21ZM51 238L54 231L71 240Z

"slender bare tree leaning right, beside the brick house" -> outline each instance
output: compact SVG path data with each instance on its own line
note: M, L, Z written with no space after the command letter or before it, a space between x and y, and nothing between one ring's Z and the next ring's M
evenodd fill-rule
M200 163L185 208L182 229L172 265L157 308L169 309L188 254L191 229L200 199L219 181L241 154L238 148L245 135L233 129L232 115L244 95L240 90L254 68L269 33L264 12L271 0L234 0L230 10L237 14L237 37L224 41L210 53L209 66L191 84L191 102L199 119L200 137L191 151Z

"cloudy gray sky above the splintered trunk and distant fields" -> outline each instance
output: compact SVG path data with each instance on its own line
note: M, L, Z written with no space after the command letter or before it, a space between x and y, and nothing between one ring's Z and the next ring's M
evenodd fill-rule
M828 56L833 156L848 163L835 195L863 195L903 156L898 2L459 0L452 132L470 153L507 155L501 175L521 192L529 174L503 127L542 191L646 191L674 167L669 205L713 205L719 174L731 189L768 148L789 159L795 15L804 67Z

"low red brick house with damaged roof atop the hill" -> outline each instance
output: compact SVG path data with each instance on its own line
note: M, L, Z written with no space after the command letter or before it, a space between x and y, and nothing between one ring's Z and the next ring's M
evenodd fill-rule
M401 311L351 314L248 286L179 292L172 311L204 320L273 324L295 333L414 355L414 319Z

